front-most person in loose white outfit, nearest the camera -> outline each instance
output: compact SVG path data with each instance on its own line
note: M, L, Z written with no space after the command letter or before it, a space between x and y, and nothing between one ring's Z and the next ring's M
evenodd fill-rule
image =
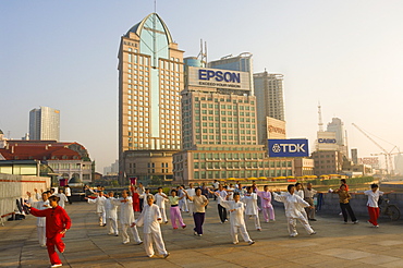
M161 212L157 205L154 204L154 196L147 196L147 205L141 216L132 223L132 227L143 226L144 232L144 248L148 257L152 257L155 252L152 247L152 241L156 243L157 251L163 258L169 256L166 249L166 245L162 240L160 223L162 222Z

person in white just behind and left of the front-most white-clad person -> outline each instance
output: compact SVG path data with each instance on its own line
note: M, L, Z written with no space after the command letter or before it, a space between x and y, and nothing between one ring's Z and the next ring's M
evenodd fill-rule
M130 243L130 237L127 234L127 228L131 228L131 232L133 234L134 241L137 245L142 244L143 241L139 239L137 228L131 227L134 222L134 212L133 212L133 200L132 197L129 196L127 191L124 190L122 192L122 198L114 199L113 204L120 206L120 223L122 228L122 236L123 236L123 244Z

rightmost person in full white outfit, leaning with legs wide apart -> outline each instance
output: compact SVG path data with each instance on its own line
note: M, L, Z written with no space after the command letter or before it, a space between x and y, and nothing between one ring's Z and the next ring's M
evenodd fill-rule
M305 202L300 196L295 195L294 184L290 184L288 187L288 193L284 195L273 194L274 200L284 203L285 217L288 222L288 229L291 237L298 235L296 232L296 220L303 224L308 234L316 234L316 232L310 228L305 216L301 212L303 207L310 207L310 205Z

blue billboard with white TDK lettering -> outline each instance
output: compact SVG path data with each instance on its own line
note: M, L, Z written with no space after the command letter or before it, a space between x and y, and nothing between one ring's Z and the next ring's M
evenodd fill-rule
M307 157L308 139L268 139L269 157Z

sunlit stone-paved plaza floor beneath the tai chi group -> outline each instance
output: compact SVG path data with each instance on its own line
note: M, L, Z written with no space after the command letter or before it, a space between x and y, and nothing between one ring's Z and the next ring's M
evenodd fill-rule
M74 203L66 207L72 229L60 254L63 267L403 267L402 222L380 219L375 229L362 218L358 224L343 224L340 216L317 216L312 222L317 232L308 235L300 223L297 237L289 237L284 210L276 208L277 221L261 223L249 235L256 244L231 242L229 223L219 223L216 202L206 214L205 234L193 235L193 218L184 215L186 229L162 226L170 256L148 258L143 245L123 245L122 236L107 234L97 226L95 206ZM261 217L260 217L261 221ZM47 251L37 242L35 217L5 222L0 227L0 267L49 267ZM138 228L142 236L142 228ZM240 240L241 241L241 240Z

